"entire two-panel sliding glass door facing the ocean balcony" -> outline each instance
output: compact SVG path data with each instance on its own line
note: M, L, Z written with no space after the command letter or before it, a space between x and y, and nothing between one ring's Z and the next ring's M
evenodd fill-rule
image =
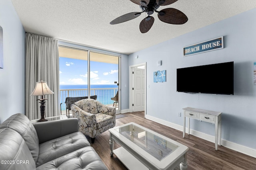
M102 104L114 104L118 112L119 101L114 98L119 85L118 56L68 47L59 47L59 55L62 114L66 114L66 97L95 95Z

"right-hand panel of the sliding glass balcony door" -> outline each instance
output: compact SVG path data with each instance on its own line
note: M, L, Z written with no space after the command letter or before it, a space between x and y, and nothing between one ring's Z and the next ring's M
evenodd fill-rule
M118 110L118 57L90 52L90 94L105 105Z

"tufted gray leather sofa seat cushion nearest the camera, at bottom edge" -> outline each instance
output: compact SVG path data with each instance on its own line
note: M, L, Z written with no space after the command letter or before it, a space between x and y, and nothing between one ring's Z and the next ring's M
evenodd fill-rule
M41 166L36 170L108 170L92 147L85 147Z

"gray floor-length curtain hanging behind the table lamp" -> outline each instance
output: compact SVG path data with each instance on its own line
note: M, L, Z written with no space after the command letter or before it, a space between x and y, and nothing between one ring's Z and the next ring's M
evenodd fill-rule
M43 80L54 92L44 95L45 116L60 115L59 86L59 51L58 40L40 35L26 33L26 66L25 66L25 115L30 119L40 119L40 96L30 96L36 82Z

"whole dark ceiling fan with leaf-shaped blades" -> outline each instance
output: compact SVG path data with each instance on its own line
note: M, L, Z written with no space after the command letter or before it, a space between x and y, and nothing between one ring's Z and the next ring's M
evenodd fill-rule
M166 8L166 9L157 11L157 9L160 6L170 5L178 0L130 0L130 1L140 5L140 9L142 10L142 12L130 12L128 14L124 14L114 19L113 21L111 21L110 22L111 25L126 22L134 18L137 18L143 12L146 12L148 16L140 22L141 33L148 32L152 27L155 19L150 15L152 15L154 12L157 12L158 13L157 16L159 20L165 23L184 24L188 21L188 17L183 12L175 8Z

